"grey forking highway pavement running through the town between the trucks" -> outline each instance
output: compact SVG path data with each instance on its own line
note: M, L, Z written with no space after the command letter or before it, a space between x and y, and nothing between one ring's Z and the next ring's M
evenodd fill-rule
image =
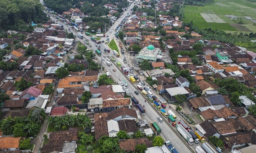
M42 0L40 0L40 1L42 1ZM115 34L114 29L116 29L116 27L118 26L118 24L119 24L123 19L125 19L126 15L128 14L128 12L130 11L130 9L131 9L133 6L134 6L134 4L132 3L132 4L127 8L127 11L125 11L125 12L120 16L120 18L117 19L116 22L109 28L109 31L105 33L106 36L109 36L110 41L114 38L114 34ZM54 18L54 17L52 16L52 14L49 14L49 15L50 15L50 17L51 17L52 20L54 20L54 21L57 20L56 18ZM60 21L58 21L58 23L60 23ZM63 27L64 29L68 29L68 28L69 28L66 24L64 24L64 23L62 23L62 24L63 24L63 26L64 26L64 27ZM71 28L70 28L70 29L71 29ZM78 33L77 33L76 31L74 31L73 29L71 29L71 32L73 32L73 33L76 34L76 35L78 34ZM111 33L110 33L110 32L111 32ZM90 44L91 44L91 47L88 47L88 46L87 46L87 47L88 47L89 49L92 49L92 50L95 51L95 50L97 49L97 47L95 46L95 43L90 39L89 36L86 36L85 34L83 34L83 36L84 36L84 39L80 39L79 37L76 37L76 39L79 40L79 41L81 41L81 42L83 42L85 39L87 39L87 40L90 42ZM101 38L101 40L104 40L104 41L105 41L105 39L106 39L106 37ZM114 39L114 40L115 40L115 39ZM116 40L115 40L115 41L116 41ZM117 43L117 41L116 41L116 43ZM139 91L139 90L137 89L136 84L131 83L130 80L124 75L124 73L122 73L122 71L120 70L120 68L116 66L116 63L114 63L114 62L111 61L111 62L112 62L112 66L107 66L107 65L106 65L106 61L107 61L107 58L109 58L109 57L108 57L109 55L114 56L114 57L116 57L116 56L115 56L114 54L112 54L112 51L111 51L109 54L105 54L105 53L104 53L103 50L104 50L104 48L107 46L107 45L105 44L105 42L104 42L104 43L101 43L101 44L96 44L96 45L98 45L98 46L100 45L100 49L101 49L101 51L102 51L102 56L96 55L96 58L98 59L98 62L101 62L101 61L102 61L102 58L104 58L103 55L106 55L106 58L104 58L104 61L102 61L102 66L104 66L104 69L105 69L106 71L109 71L109 72L111 73L111 77L115 80L116 83L117 83L118 81L122 81L122 80L125 79L125 80L127 81L127 83L128 83L127 88L129 89L129 91L130 91L130 93L131 93L131 96L136 97L136 98L139 100L139 103L142 104L142 105L144 105L144 107L145 107L145 109L146 109L146 114L145 114L145 115L142 115L141 117L142 117L143 119L146 119L146 120L148 121L148 123L150 123L150 122L158 122L157 117L160 116L160 117L164 120L164 122L158 122L158 125L159 125L159 127L161 128L161 134L160 134L160 136L161 136L165 141L167 141L167 140L171 141L172 144L173 144L173 146L175 147L175 149L176 149L178 152L180 152L180 153L195 152L195 148L196 148L196 146L198 146L198 145L196 145L196 144L194 143L193 146L189 146L188 143L185 142L185 139L184 139L183 137L181 137L179 134L177 134L176 129L171 126L171 124L167 121L167 118L165 118L165 117L163 117L161 114L159 114L160 111L158 111L157 109L155 109L155 108L153 107L153 104L152 104L152 103L150 103L150 102L148 102L148 101L144 102L144 101L146 100L146 97L143 96L142 93L141 93L141 91ZM117 43L117 46L118 46L118 43ZM119 47L119 46L118 46L118 47ZM124 57L126 57L127 64L124 64L124 63L123 63L123 58L124 58ZM121 53L120 53L120 57L119 57L119 58L116 57L115 59L116 59L116 62L120 62L120 63L122 64L122 66L129 67L129 66L128 66L129 63L130 63L130 65L131 65L131 61L130 61L129 55L127 55L127 52L125 52L125 54L121 54ZM116 69L115 72L112 70L113 68ZM135 72L134 72L133 74L136 75ZM140 77L140 76L139 76L139 77ZM141 80L144 80L144 79L141 78ZM146 85L145 85L145 86L146 86ZM143 86L143 87L144 87L144 86ZM139 92L139 95L136 95L136 94L134 93L134 91L136 91L136 90ZM159 98L159 95L157 95L154 91L152 91L152 93L153 93L155 96L157 96L157 98ZM137 110L137 108L134 107L134 106L132 106L132 109ZM169 108L169 104L167 104L166 112L168 112L169 109L171 109L171 108ZM177 116L177 120L180 120L179 116ZM174 132L174 131L175 131L175 132Z

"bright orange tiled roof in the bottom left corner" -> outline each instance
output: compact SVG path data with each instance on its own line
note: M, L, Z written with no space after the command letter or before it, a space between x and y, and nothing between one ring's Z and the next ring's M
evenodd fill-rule
M9 149L9 148L19 148L19 140L21 137L0 137L0 148Z

